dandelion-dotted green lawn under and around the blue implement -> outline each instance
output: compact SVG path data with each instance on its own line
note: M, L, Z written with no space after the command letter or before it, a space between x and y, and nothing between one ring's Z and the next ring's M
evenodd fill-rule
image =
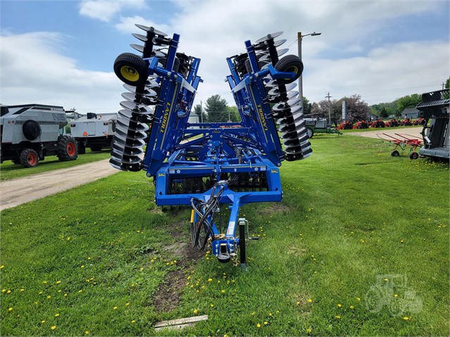
M376 139L311 143L282 165L282 203L242 208L261 237L246 271L187 257L190 210L158 212L144 172L2 211L1 334L449 336L449 166ZM170 282L182 295L161 311Z

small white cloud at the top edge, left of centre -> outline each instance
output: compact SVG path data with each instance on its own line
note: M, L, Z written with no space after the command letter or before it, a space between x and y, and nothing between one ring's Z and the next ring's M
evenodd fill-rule
M123 8L144 8L144 0L82 0L80 14L109 22Z

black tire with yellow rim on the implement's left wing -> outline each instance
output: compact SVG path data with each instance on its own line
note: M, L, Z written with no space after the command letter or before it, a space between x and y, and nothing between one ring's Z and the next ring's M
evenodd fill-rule
M114 72L122 82L137 87L149 77L149 66L133 53L121 53L114 61Z

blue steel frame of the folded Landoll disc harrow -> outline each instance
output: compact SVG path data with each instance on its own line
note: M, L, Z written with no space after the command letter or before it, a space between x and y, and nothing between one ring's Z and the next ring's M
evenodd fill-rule
M231 75L227 82L232 89L242 122L188 123L189 113L200 82L197 71L200 60L194 58L187 78L174 72L173 63L179 35L174 34L168 49L165 68L157 66L158 59L148 58L149 75L161 81L159 103L147 143L143 169L156 182L157 205L190 205L192 198L208 201L211 189L203 193L170 193L171 182L211 177L223 189L219 202L230 205L230 219L225 233L219 233L213 223L212 253L216 256L225 245L227 253L235 254L239 239L236 229L239 208L246 203L282 200L278 167L283 160L280 139L273 120L263 81L294 78L290 72L278 72L272 65L239 78L230 58ZM258 69L256 53L250 41L245 42L252 69ZM196 160L187 160L188 158ZM233 191L221 180L224 174L265 174L266 191ZM196 222L198 215L195 215ZM222 234L222 235L220 235Z

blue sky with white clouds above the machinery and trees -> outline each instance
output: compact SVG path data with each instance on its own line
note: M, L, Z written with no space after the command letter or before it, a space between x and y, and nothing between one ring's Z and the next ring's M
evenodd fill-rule
M446 0L0 1L0 102L46 103L86 113L119 109L113 62L133 52L134 23L181 34L180 51L201 58L196 102L213 94L233 105L225 58L244 41L284 31L321 32L302 43L304 96L361 94L369 104L441 88L450 75Z

